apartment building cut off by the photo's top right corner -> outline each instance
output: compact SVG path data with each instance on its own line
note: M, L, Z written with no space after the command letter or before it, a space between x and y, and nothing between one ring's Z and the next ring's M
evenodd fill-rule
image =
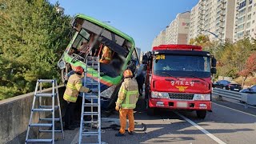
M234 42L244 37L256 38L256 1L236 0Z

